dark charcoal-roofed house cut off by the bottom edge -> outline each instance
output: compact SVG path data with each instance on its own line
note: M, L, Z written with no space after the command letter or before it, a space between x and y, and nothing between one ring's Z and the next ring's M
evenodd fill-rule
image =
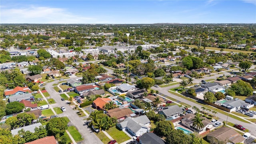
M140 144L165 144L162 138L152 132L144 133L138 139Z

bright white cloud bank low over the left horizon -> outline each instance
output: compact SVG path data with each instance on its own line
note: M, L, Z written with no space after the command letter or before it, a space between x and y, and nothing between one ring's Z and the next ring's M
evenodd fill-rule
M86 24L97 23L96 18L72 14L63 8L35 7L2 8L1 23L40 23L40 24Z

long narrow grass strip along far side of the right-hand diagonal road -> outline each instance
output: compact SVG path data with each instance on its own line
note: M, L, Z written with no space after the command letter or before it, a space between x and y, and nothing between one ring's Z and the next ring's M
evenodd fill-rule
M177 94L176 92L172 92L172 91L170 91L170 90L168 90L168 92L171 93L171 94L174 94L174 95L176 95L176 96L180 96L181 98L184 98L184 99L189 100L189 101L191 101L191 102L200 104L201 106L204 106L204 107L206 107L206 108L210 108L211 110L214 110L214 111L216 111L216 112L218 112L218 113L225 114L226 116L228 116L228 113L227 113L227 112L224 112L223 110L220 110L220 109L218 109L218 108L214 108L214 107L209 106L209 105L206 105L206 104L201 104L201 103L197 102L197 101L194 100L194 99L191 99L191 98L189 98L189 97L183 96L183 95L181 95L181 94ZM239 117L234 116L234 115L231 115L231 114L229 115L229 117L234 118L234 119L236 119L236 120L240 120L241 122L249 123L249 122L247 122L246 120L243 120L242 118L239 118Z

